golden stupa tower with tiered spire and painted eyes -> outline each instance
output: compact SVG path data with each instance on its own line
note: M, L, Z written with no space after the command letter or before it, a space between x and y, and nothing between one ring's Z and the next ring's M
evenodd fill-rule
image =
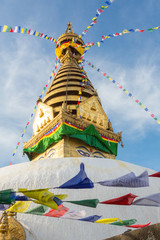
M30 160L46 157L115 158L121 133L114 133L97 91L80 66L84 42L67 30L56 45L61 67L43 100L39 99L33 136L24 144Z

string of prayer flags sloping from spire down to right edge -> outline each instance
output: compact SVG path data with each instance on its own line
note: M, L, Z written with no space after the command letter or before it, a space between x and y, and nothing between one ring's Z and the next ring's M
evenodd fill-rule
M107 73L104 73L100 68L97 68L92 63L88 62L87 60L83 59L83 62L86 62L88 66L100 72L103 77L107 78L110 82L114 83L119 89L121 89L128 97L132 98L134 102L136 102L145 112L147 112L158 124L160 124L160 119L158 119L155 114L153 114L139 99L137 99L131 92L129 92L126 88L124 88L120 83L116 80L112 79Z

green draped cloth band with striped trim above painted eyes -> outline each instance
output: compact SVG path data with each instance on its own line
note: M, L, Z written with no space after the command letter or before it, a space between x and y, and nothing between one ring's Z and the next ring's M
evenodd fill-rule
M24 148L23 152L43 153L51 144L59 142L63 136L80 139L89 146L93 146L103 152L117 156L118 141L100 135L92 124L86 129L83 129L67 121L56 124L37 142L28 148Z

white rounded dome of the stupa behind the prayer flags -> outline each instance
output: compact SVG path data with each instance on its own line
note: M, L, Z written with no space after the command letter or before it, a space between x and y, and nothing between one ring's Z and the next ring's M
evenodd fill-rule
M115 179L130 172L140 175L144 171L153 174L154 171L131 163L105 158L48 158L38 161L21 163L0 169L1 189L18 188L39 189L52 188L55 194L68 194L66 201L95 199L105 201L128 193L145 197L160 191L158 178L149 178L149 187L125 188L106 187L94 184L92 189L53 189L74 177L83 162L88 178L94 183ZM138 198L137 198L138 199ZM86 217L100 215L102 218L137 219L136 224L158 223L160 212L158 207L150 206L119 206L98 204L90 208L64 202L69 210L85 210ZM30 209L37 206L32 203ZM63 218L37 216L18 213L17 220L24 226L26 239L38 240L98 240L118 235L127 230L126 227L109 224L83 222Z

